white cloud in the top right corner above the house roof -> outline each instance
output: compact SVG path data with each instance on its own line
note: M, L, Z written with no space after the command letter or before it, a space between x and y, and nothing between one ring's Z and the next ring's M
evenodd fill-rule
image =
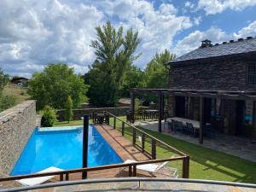
M256 0L199 0L198 9L204 9L207 15L214 15L226 9L241 11L256 5Z

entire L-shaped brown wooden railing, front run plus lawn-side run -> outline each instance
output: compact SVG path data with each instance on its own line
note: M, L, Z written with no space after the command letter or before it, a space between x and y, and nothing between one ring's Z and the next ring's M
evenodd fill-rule
M108 113L108 112L105 112ZM139 148L143 154L148 155L151 160L143 160L143 161L137 161L127 164L113 164L108 166L94 166L94 167L85 167L85 168L79 168L79 169L70 169L65 171L58 171L58 172L44 172L44 173L36 173L36 174L28 174L28 175L20 175L20 176L12 176L12 177L2 177L0 178L0 182L6 182L6 181L15 181L23 178L31 178L31 177L45 177L45 176L59 176L60 181L63 180L69 180L69 175L73 173L81 173L81 176L84 172L94 172L94 171L102 171L102 170L108 170L113 168L120 168L120 167L128 167L129 170L129 177L136 177L137 176L137 166L139 165L145 165L145 164L154 164L154 163L161 163L166 161L175 161L175 160L182 160L183 163L183 178L189 177L189 156L187 154L184 154L183 152L177 150L176 148L173 148L172 146L160 141L159 139L150 136L145 131L142 131L135 127L134 125L131 125L127 122L125 122L122 119L119 119L118 117L114 116L112 113L108 113L109 116L113 117L113 129L116 128L117 120L120 120L122 122L122 128L121 132L122 135L125 136L125 129L128 127L125 127L125 125L128 125L132 129L132 143L134 146ZM136 143L137 140L137 133L142 134L142 145ZM151 151L148 152L145 148L145 139L148 137L152 141L152 148ZM164 145L166 148L169 148L170 150L174 151L175 153L179 154L178 157L170 157L165 159L156 160L156 144L159 143L161 145Z

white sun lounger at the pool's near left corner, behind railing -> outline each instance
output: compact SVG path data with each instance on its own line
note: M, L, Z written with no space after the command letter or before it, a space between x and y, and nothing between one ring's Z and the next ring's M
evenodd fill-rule
M37 172L37 173L58 172L58 171L63 171L63 170L60 168L57 168L55 166L50 166L47 169L44 169L41 172ZM23 179L17 180L17 182L21 183L22 185L32 186L32 185L44 183L53 177L55 177L55 176L53 175L53 176L45 176L45 177L23 178Z

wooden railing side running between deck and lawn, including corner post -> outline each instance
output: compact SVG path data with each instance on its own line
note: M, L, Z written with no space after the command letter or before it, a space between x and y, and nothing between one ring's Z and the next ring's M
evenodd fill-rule
M105 112L105 113L107 113L109 115L109 117L113 118L113 129L116 129L116 127L117 127L117 120L119 120L122 123L122 125L121 125L122 136L125 136L125 129L127 129L127 128L131 129L132 144L136 148L138 148L143 154L148 156L148 158L150 158L151 160L156 160L156 154L157 154L156 146L157 146L157 144L165 146L170 151L181 155L179 157L181 159L177 159L177 160L183 160L183 177L184 178L189 177L189 155L184 154L182 151L177 150L177 148L173 148L172 146L168 145L167 143L162 142L160 139L149 135L147 132L137 128L135 125L131 125L130 123L125 122L123 119L120 119L119 117L113 115L113 113L109 113L109 112ZM125 127L125 125L128 125L128 127L127 126ZM137 143L137 135L140 135L142 137L141 145ZM151 143L151 150L150 151L148 151L145 148L146 138L151 140L151 142L150 142ZM169 158L168 160L173 160L173 157ZM162 159L162 160L159 160L159 162L165 162L165 161L168 161L168 160L167 159Z

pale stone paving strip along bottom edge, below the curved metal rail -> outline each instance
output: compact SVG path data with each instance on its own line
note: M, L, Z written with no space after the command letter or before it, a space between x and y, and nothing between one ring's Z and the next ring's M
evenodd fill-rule
M201 183L179 183L179 182L126 182L126 183L97 183L79 184L73 186L56 187L51 189L32 190L33 192L139 192L139 191L172 191L172 192L255 192L253 188L241 188L225 185L201 184Z

